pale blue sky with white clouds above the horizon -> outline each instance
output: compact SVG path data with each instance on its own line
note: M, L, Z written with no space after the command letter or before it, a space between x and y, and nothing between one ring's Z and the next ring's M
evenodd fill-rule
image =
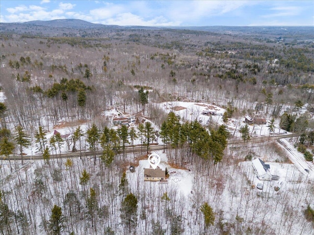
M314 0L0 0L0 22L79 19L141 26L314 26Z

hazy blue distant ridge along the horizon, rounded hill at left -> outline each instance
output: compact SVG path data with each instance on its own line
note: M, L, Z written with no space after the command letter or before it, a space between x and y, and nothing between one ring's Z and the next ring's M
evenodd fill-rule
M239 36L270 37L272 39L284 37L285 40L314 40L314 26L139 26L139 25L106 25L94 24L78 19L57 19L51 21L29 21L24 23L0 23L0 33L30 34L45 36L67 37L103 37L107 33L120 30L166 30L182 33L210 32ZM266 36L267 35L267 36ZM299 36L302 35L302 38ZM121 35L120 35L121 36ZM119 37L120 37L119 36ZM129 36L128 36L129 37ZM293 39L292 39L293 38Z

